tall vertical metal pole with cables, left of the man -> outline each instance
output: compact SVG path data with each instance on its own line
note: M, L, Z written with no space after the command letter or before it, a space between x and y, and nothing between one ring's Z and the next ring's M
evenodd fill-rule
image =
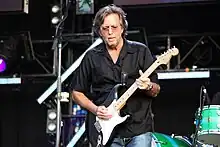
M61 0L61 4L62 0ZM66 18L68 17L68 10L69 7L71 5L71 0L68 1L68 4L66 6L66 11L64 13L64 15L62 16L62 9L60 12L61 15L61 21L59 22L59 24L57 24L56 26L56 33L55 33L55 38L54 38L54 42L53 42L53 47L55 47L55 49L57 50L57 65L58 67L57 69L57 118L56 118L56 122L57 122L57 127L56 127L56 146L55 147L59 147L60 146L60 135L61 135L61 104L60 104L60 100L62 99L61 96L61 92L62 92L62 85L61 85L61 50L62 50L62 31L63 31L63 27L64 27L64 21L66 20Z

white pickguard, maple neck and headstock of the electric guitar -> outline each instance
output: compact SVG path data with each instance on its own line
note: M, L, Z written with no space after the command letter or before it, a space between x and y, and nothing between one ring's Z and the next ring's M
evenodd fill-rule
M141 75L141 77L148 77L159 65L167 64L171 57L176 56L178 53L179 50L175 47L169 49L167 52L157 57L157 60ZM97 138L98 144L102 143L102 145L105 145L108 142L115 126L124 122L129 117L129 115L121 117L119 115L119 111L137 88L137 84L134 82L119 99L113 100L113 102L107 107L110 114L112 114L112 117L109 120L99 119L96 116L96 122L94 126L98 132L102 132L102 137L99 135Z

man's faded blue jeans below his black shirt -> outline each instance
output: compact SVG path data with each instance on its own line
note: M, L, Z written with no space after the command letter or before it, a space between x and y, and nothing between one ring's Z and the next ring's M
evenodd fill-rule
M134 136L131 139L114 138L110 147L151 147L152 135L150 132Z

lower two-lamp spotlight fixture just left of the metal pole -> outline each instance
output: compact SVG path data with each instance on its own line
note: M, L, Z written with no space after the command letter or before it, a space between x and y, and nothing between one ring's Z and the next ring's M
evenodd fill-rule
M46 132L48 134L54 134L56 133L56 122L57 114L55 109L49 109L47 111L47 129Z

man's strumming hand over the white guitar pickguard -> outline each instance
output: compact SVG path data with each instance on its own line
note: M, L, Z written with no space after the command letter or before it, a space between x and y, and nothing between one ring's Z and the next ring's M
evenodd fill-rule
M105 106L97 106L96 116L100 119L108 120L112 117L112 114L110 114L110 112Z

